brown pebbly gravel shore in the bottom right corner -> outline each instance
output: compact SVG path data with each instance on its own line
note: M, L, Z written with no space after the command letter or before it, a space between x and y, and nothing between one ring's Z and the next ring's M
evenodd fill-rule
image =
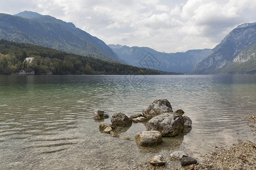
M250 130L254 131L256 134L256 116L247 117L251 121ZM135 169L147 169L147 170L162 170L162 169L225 169L225 170L254 170L256 169L256 143L247 141L237 141L232 146L229 146L228 149L217 147L216 151L211 152L210 154L204 155L204 159L201 162L193 165L188 165L181 167L179 162L174 162L172 160L167 160L167 164L163 167L152 166L148 163L140 164ZM172 168L179 167L179 168ZM134 168L131 168L134 169Z

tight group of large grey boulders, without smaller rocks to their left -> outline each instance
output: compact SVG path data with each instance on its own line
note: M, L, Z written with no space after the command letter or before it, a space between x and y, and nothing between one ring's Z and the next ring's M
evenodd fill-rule
M155 131L158 131L162 137L174 137L183 132L185 128L192 127L191 119L182 116L183 110L179 109L172 112L172 106L167 99L154 100L142 111L142 114L150 120L146 124L147 131L137 133L135 136L135 140L140 146L152 146L161 143L160 138L156 140Z

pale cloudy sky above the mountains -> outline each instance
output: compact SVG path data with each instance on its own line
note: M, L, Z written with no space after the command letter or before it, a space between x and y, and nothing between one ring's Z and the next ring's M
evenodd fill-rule
M106 44L160 52L214 48L242 23L256 22L255 0L8 0L0 12L34 11L72 22Z

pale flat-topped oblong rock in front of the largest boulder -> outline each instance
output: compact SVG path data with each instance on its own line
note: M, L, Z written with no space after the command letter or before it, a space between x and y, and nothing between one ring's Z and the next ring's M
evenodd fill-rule
M163 142L162 135L159 131L142 131L135 135L135 141L139 146L155 146Z

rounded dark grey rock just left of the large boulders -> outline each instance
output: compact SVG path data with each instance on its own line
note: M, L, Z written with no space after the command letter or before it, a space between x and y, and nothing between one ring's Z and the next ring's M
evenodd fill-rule
M123 113L114 113L111 118L111 122L113 126L122 127L131 126L131 124L133 124L131 119Z

